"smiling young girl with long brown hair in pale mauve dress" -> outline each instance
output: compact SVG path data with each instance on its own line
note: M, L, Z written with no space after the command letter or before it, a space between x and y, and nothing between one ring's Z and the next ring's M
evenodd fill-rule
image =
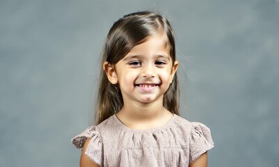
M97 126L72 139L80 166L207 166L210 130L178 113L178 62L168 20L125 15L104 45Z

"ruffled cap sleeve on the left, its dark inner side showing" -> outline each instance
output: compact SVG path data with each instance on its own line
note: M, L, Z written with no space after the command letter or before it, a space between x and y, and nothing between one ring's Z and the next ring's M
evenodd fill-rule
M90 159L95 161L95 163L99 164L99 166L102 166L102 138L95 126L88 127L81 134L72 138L72 144L79 150L82 150L87 138L91 139L88 143L85 153L88 155L88 157L90 157Z

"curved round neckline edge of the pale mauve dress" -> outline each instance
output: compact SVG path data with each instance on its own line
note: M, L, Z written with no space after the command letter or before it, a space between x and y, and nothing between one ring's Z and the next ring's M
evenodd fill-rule
M170 120L168 120L168 122L166 122L165 125L162 125L161 127L150 128L150 129L131 129L130 127L127 127L126 125L124 125L120 121L120 119L116 116L116 113L113 115L113 118L116 120L118 125L120 125L120 127L122 127L123 129L125 129L125 130L127 130L129 132L146 133L146 132L157 132L160 129L166 129L166 127L169 127L174 122L174 120L177 118L177 115L175 113L173 113L173 117L170 118Z

